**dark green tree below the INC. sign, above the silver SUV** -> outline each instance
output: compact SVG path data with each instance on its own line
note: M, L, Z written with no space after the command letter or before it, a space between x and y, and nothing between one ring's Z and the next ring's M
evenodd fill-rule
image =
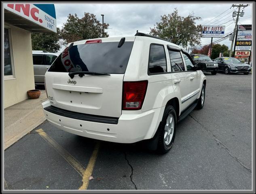
M59 33L60 30L57 27L57 33L55 32L32 32L31 41L32 41L32 50L36 51L48 51L51 53L56 53L59 51Z

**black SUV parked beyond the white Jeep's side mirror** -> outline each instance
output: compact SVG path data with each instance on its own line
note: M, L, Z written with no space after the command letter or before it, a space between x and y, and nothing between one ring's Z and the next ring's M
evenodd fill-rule
M212 75L216 75L217 69L218 69L218 63L214 62L210 57L207 55L195 55L190 54L193 61L195 62L195 65L198 63L205 63L206 69L203 70L203 72L211 72Z

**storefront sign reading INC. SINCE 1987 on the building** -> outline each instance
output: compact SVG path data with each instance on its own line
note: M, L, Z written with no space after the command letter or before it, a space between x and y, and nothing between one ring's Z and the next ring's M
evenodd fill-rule
M4 3L4 9L47 28L52 32L57 32L54 4Z

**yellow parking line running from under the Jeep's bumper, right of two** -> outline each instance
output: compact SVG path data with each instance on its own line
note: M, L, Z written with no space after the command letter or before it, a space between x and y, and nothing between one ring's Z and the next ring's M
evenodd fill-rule
M89 177L93 173L94 164L96 162L97 154L99 151L99 145L100 145L100 143L97 142L94 147L93 153L91 154L91 158L90 158L87 168L85 170L85 174L83 175L83 180L82 180L83 185L80 186L79 190L87 190L87 187L89 184Z

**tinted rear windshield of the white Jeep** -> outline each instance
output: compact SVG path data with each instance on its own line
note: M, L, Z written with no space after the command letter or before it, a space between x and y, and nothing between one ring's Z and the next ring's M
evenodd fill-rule
M124 74L133 42L125 42L118 48L119 42L79 44L68 47L57 57L49 72L70 72L75 68L81 71Z

